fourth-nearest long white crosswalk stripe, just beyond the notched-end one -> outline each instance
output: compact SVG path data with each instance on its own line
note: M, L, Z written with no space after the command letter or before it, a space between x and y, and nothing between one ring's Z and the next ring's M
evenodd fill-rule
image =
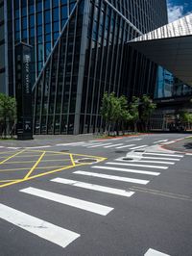
M92 177L98 177L98 178L103 178L103 179L108 179L108 180L117 180L117 181L124 181L124 182L137 183L137 184L143 184L143 185L146 185L150 182L149 180L131 179L131 178L127 178L127 177L113 176L113 175L89 172L89 171L83 171L83 170L77 170L77 171L74 171L73 173L86 175L86 176L92 176Z

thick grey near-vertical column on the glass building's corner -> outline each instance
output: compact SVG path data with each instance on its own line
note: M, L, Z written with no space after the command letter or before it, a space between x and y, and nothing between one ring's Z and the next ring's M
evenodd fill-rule
M77 98L76 98L76 110L74 120L74 134L79 134L80 130L80 115L82 106L82 93L84 84L84 63L85 63L85 51L87 42L87 30L88 30L88 14L89 14L89 1L84 1L84 20L83 20L83 31L82 31L82 42L81 42L81 53L80 53L80 64L79 64L79 75L77 85Z

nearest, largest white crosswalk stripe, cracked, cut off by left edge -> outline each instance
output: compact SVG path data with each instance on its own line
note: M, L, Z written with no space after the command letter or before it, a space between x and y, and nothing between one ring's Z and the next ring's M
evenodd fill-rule
M63 248L80 237L80 234L56 226L43 219L27 215L3 204L0 204L0 218L42 239L56 243Z

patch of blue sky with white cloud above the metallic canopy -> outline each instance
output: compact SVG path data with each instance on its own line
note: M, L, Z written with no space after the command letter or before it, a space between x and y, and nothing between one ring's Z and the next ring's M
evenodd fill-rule
M167 0L167 5L170 22L192 13L192 0Z

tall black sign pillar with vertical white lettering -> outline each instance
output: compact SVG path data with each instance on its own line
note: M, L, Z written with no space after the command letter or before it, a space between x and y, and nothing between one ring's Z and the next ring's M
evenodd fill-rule
M31 45L23 42L15 45L16 130L18 140L33 139L31 49Z

